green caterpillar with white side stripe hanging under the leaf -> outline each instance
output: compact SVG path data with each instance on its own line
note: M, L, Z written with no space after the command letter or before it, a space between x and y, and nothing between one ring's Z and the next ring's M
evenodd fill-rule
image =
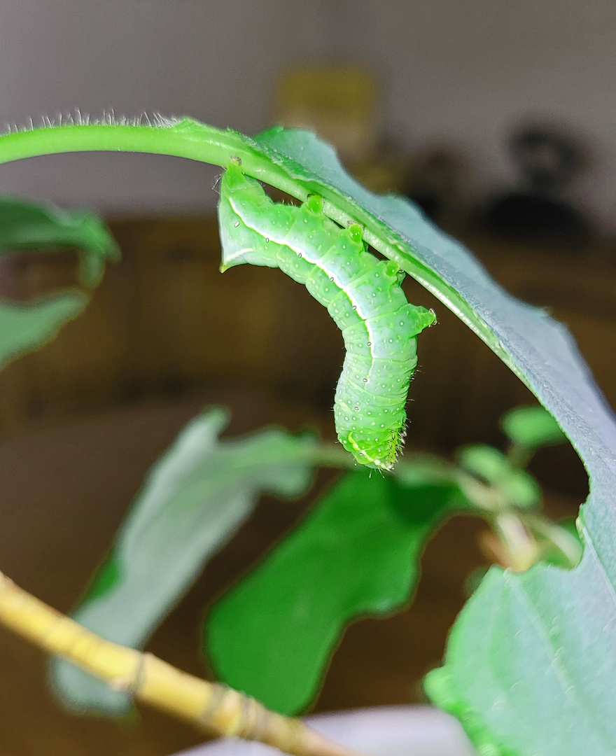
M243 262L280 268L327 307L346 348L334 403L339 441L359 463L392 469L404 439L416 336L435 314L410 305L398 265L366 251L360 225L330 221L316 195L299 207L274 203L231 163L218 219L221 271Z

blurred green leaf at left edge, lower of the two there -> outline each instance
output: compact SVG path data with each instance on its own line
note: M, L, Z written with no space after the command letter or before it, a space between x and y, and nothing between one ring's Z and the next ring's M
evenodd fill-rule
M85 294L72 291L27 305L0 301L0 370L53 339L67 321L82 312L88 300Z

